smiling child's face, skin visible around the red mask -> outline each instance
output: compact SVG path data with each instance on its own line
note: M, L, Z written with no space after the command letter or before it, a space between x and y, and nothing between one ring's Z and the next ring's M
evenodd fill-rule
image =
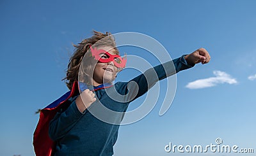
M103 49L109 52L111 55L116 55L116 51L111 46L99 46L98 49ZM105 54L100 54L100 57L108 57ZM108 63L97 62L95 69L93 71L93 85L99 85L106 82L112 82L115 80L116 74L118 73L118 68L114 66L113 61Z

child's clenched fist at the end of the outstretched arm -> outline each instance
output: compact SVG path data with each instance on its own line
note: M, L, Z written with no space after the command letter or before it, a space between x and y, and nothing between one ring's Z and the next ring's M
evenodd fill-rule
M211 60L211 56L205 50L205 48L200 48L189 55L184 56L184 59L188 62L188 64L207 64Z

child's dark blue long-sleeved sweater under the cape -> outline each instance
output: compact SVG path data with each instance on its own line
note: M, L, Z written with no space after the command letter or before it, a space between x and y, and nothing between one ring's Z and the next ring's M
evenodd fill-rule
M150 68L129 81L136 82L137 85L131 85L134 83L128 85L129 82L117 82L113 87L96 90L97 101L84 113L77 109L76 97L68 99L70 106L58 112L49 124L49 136L56 141L55 155L113 155L113 146L118 136L118 124L122 121L129 103L145 94L157 81L189 67L193 67L193 65L187 64L182 56ZM154 73L157 76L152 76ZM116 96L117 99L111 98L115 97L115 94L120 95ZM102 105L120 113L111 115L111 112L102 110L100 107ZM101 117L95 114L101 115ZM99 119L104 117L108 118L107 122Z

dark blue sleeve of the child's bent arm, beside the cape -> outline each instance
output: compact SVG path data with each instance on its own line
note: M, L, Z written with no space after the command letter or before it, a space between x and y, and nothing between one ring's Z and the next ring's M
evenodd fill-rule
M49 136L53 141L62 138L83 117L76 106L76 98L72 98L70 102L67 110L58 112L49 124Z

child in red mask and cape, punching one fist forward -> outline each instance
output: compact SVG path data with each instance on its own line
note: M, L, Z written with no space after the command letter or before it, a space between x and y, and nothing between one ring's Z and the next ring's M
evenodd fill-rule
M174 74L172 62L178 73L210 60L207 50L200 48L148 69L129 81L136 85L129 82L113 84L116 74L125 67L126 58L119 56L111 34L94 31L92 38L84 39L75 47L65 78L72 91L41 111L34 134L36 155L113 155L119 125L131 101L145 94L157 81ZM152 73L157 76L150 76ZM122 98L111 98L115 96ZM51 109L58 113L55 111L49 117L45 112ZM41 118L52 120L42 122ZM43 125L44 131L49 128L49 136L42 137L39 132L43 131Z

